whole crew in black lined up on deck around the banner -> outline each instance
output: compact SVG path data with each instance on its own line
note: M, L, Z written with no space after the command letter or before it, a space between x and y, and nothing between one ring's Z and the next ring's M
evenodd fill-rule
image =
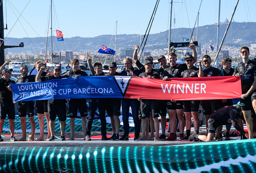
M109 64L109 72L102 71L101 62L96 62L92 65L91 58L88 59L88 65L91 71L90 76L137 76L147 77L149 79L169 80L170 78L187 78L187 77L211 77L211 76L236 76L241 77L242 95L236 106L233 106L232 99L222 100L186 100L177 101L165 98L165 100L154 99L131 99L131 98L89 98L89 117L87 113L86 98L76 98L69 100L69 117L71 135L68 140L75 139L75 118L77 111L80 112L82 119L83 139L91 140L91 127L94 120L95 112L98 108L101 121L101 140L129 140L129 109L131 108L133 123L134 123L134 140L177 140L177 131L179 131L179 141L211 141L222 138L222 125L226 125L225 140L230 140L229 132L231 125L241 134L241 139L253 138L256 136L254 128L256 128L256 62L249 60L249 48L241 48L242 61L235 68L231 67L232 60L228 57L222 59L222 67L215 68L211 66L212 60L209 55L204 55L202 61L197 60L197 52L194 44L190 44L189 48L193 50L192 55L185 56L185 63L178 64L175 52L170 52L166 60L164 55L158 57L159 68L153 68L153 57L146 56L144 65L140 63L137 56L139 46L134 49L133 58L126 57L123 60L123 71L117 72L117 64L112 62ZM169 61L169 63L167 63ZM136 67L133 67L133 63ZM45 65L42 61L37 61L35 68L38 71L37 75L28 75L28 67L22 65L20 67L21 76L16 80L11 80L12 69L5 69L8 65L6 61L0 67L0 141L3 129L3 123L6 115L8 115L10 123L11 141L17 141L14 137L14 119L15 101L12 100L12 92L10 84L25 83L25 82L41 82L46 80L55 80L66 77L81 77L88 74L79 69L79 60L73 59L71 67L66 74L61 75L61 67L55 66L53 72L46 72ZM169 64L169 65L167 65ZM197 67L195 67L197 65ZM202 68L204 66L204 69ZM220 86L221 87L221 86ZM228 93L227 93L228 94ZM35 139L35 120L34 120L34 102L22 101L18 102L18 112L21 118L22 138L18 141L26 141L26 116L29 117L31 123L30 141L44 140L44 117L47 120L47 141L54 141L55 120L58 116L61 129L61 140L66 140L66 99L54 100L37 100L35 109L38 115L40 137ZM122 109L121 109L122 105ZM202 109L199 108L202 107ZM122 120L124 133L119 137L120 119L122 110ZM205 116L206 134L199 134L201 112ZM113 135L107 137L106 132L106 117L110 117ZM168 132L166 133L166 115L169 116ZM159 134L159 120L161 116L162 133ZM88 118L87 118L88 117ZM191 126L193 118L194 132L191 134ZM178 122L177 122L178 120ZM247 130L243 129L243 123L246 123ZM177 128L178 127L178 128ZM184 132L186 128L186 133ZM149 133L149 130L151 133ZM155 133L154 133L155 132Z

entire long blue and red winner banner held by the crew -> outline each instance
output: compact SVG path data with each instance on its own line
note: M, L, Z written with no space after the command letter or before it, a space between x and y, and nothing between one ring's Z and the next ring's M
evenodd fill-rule
M14 101L64 98L142 98L209 100L240 98L235 76L175 78L168 81L131 76L81 76L11 84Z

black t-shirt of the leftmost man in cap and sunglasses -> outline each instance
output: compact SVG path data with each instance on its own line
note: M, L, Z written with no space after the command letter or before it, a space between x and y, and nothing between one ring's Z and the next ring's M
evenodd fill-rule
M10 84L15 84L15 81L11 79L6 81L5 78L3 77L0 79L0 101L1 102L8 102L8 103L13 102L13 99L11 97L12 92L7 88Z

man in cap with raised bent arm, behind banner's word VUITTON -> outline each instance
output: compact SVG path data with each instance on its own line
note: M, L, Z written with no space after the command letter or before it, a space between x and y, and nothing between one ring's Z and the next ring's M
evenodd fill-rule
M53 69L53 76L42 76L42 72L45 70L45 67L41 67L39 70L36 80L38 82L52 80L52 79L61 79L65 78L61 76L61 67L55 66ZM50 119L50 131L51 137L49 141L54 141L54 130L55 130L55 119L56 115L58 114L58 118L60 121L61 127L61 141L65 141L66 138L64 136L65 129L66 129L66 99L54 99L48 100L48 112L49 112L49 119Z

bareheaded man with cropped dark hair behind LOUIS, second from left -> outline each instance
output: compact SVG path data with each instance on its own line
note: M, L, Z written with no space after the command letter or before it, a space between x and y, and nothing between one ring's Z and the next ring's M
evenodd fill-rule
M26 65L20 67L21 76L16 80L16 83L35 82L35 75L28 75L29 69ZM34 141L35 134L35 119L34 119L34 101L21 101L18 105L19 117L21 118L22 138L18 141L27 141L26 138L26 114L31 123L31 137L29 141Z

